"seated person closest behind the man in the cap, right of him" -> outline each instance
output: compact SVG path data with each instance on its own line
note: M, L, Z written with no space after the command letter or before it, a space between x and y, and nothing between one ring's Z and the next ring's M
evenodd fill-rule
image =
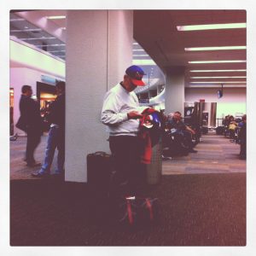
M177 111L171 114L171 119L169 119L168 121L168 126L177 129L177 132L179 132L180 134L182 134L183 137L186 138L190 153L197 152L195 149L193 149L194 145L192 143L192 134L195 134L195 131L189 126L184 125L183 121L181 121L180 112Z

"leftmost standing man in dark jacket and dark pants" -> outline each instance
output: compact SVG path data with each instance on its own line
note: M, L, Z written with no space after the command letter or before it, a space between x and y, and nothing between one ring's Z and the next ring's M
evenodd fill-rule
M23 85L20 97L20 119L26 128L26 165L30 167L40 166L41 164L34 159L34 151L40 143L43 133L43 121L40 115L40 105L32 99L32 87Z

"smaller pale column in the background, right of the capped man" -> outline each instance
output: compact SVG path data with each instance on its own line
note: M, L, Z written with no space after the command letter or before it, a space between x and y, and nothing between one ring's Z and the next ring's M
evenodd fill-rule
M184 68L173 67L166 73L166 110L165 113L184 111Z

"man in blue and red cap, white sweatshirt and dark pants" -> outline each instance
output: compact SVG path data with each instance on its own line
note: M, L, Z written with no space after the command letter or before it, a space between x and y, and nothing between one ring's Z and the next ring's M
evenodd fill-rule
M142 138L138 137L139 113L138 99L133 92L143 83L143 69L137 66L128 67L124 80L108 90L102 107L102 123L109 132L109 148L113 154L116 171L114 193L135 195L143 177Z

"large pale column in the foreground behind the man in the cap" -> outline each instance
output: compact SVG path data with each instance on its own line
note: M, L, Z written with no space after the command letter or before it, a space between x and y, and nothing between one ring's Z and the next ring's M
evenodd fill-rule
M109 152L102 100L131 66L132 38L132 11L67 11L66 181L86 182L86 155Z

